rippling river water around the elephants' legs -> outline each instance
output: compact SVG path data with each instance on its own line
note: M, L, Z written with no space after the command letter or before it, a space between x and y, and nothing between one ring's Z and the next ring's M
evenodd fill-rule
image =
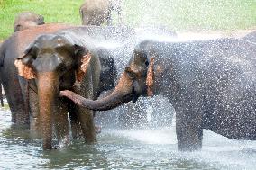
M256 141L226 139L204 130L203 148L179 152L175 121L161 129L104 128L95 145L83 139L42 151L41 139L15 128L0 109L0 169L255 169Z

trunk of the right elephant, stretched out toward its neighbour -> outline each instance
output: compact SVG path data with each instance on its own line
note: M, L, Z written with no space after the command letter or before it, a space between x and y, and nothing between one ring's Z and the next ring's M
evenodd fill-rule
M133 100L134 94L133 80L131 80L126 73L123 73L123 76L121 77L119 84L115 87L114 92L100 100L88 100L68 90L60 92L60 96L66 96L74 103L94 111L111 110L123 103L128 103Z

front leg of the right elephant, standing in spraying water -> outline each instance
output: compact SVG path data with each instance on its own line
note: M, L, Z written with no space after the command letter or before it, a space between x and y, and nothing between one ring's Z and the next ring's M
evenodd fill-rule
M178 149L193 151L202 148L203 128L202 118L196 108L193 112L176 112L176 134Z

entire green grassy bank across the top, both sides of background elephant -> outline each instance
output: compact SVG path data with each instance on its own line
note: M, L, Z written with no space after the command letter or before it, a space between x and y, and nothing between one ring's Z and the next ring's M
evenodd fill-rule
M44 16L45 22L80 24L78 9L83 2L0 0L0 40L13 32L15 14L23 11L39 13ZM256 1L123 0L123 21L131 26L158 25L176 31L255 29Z

